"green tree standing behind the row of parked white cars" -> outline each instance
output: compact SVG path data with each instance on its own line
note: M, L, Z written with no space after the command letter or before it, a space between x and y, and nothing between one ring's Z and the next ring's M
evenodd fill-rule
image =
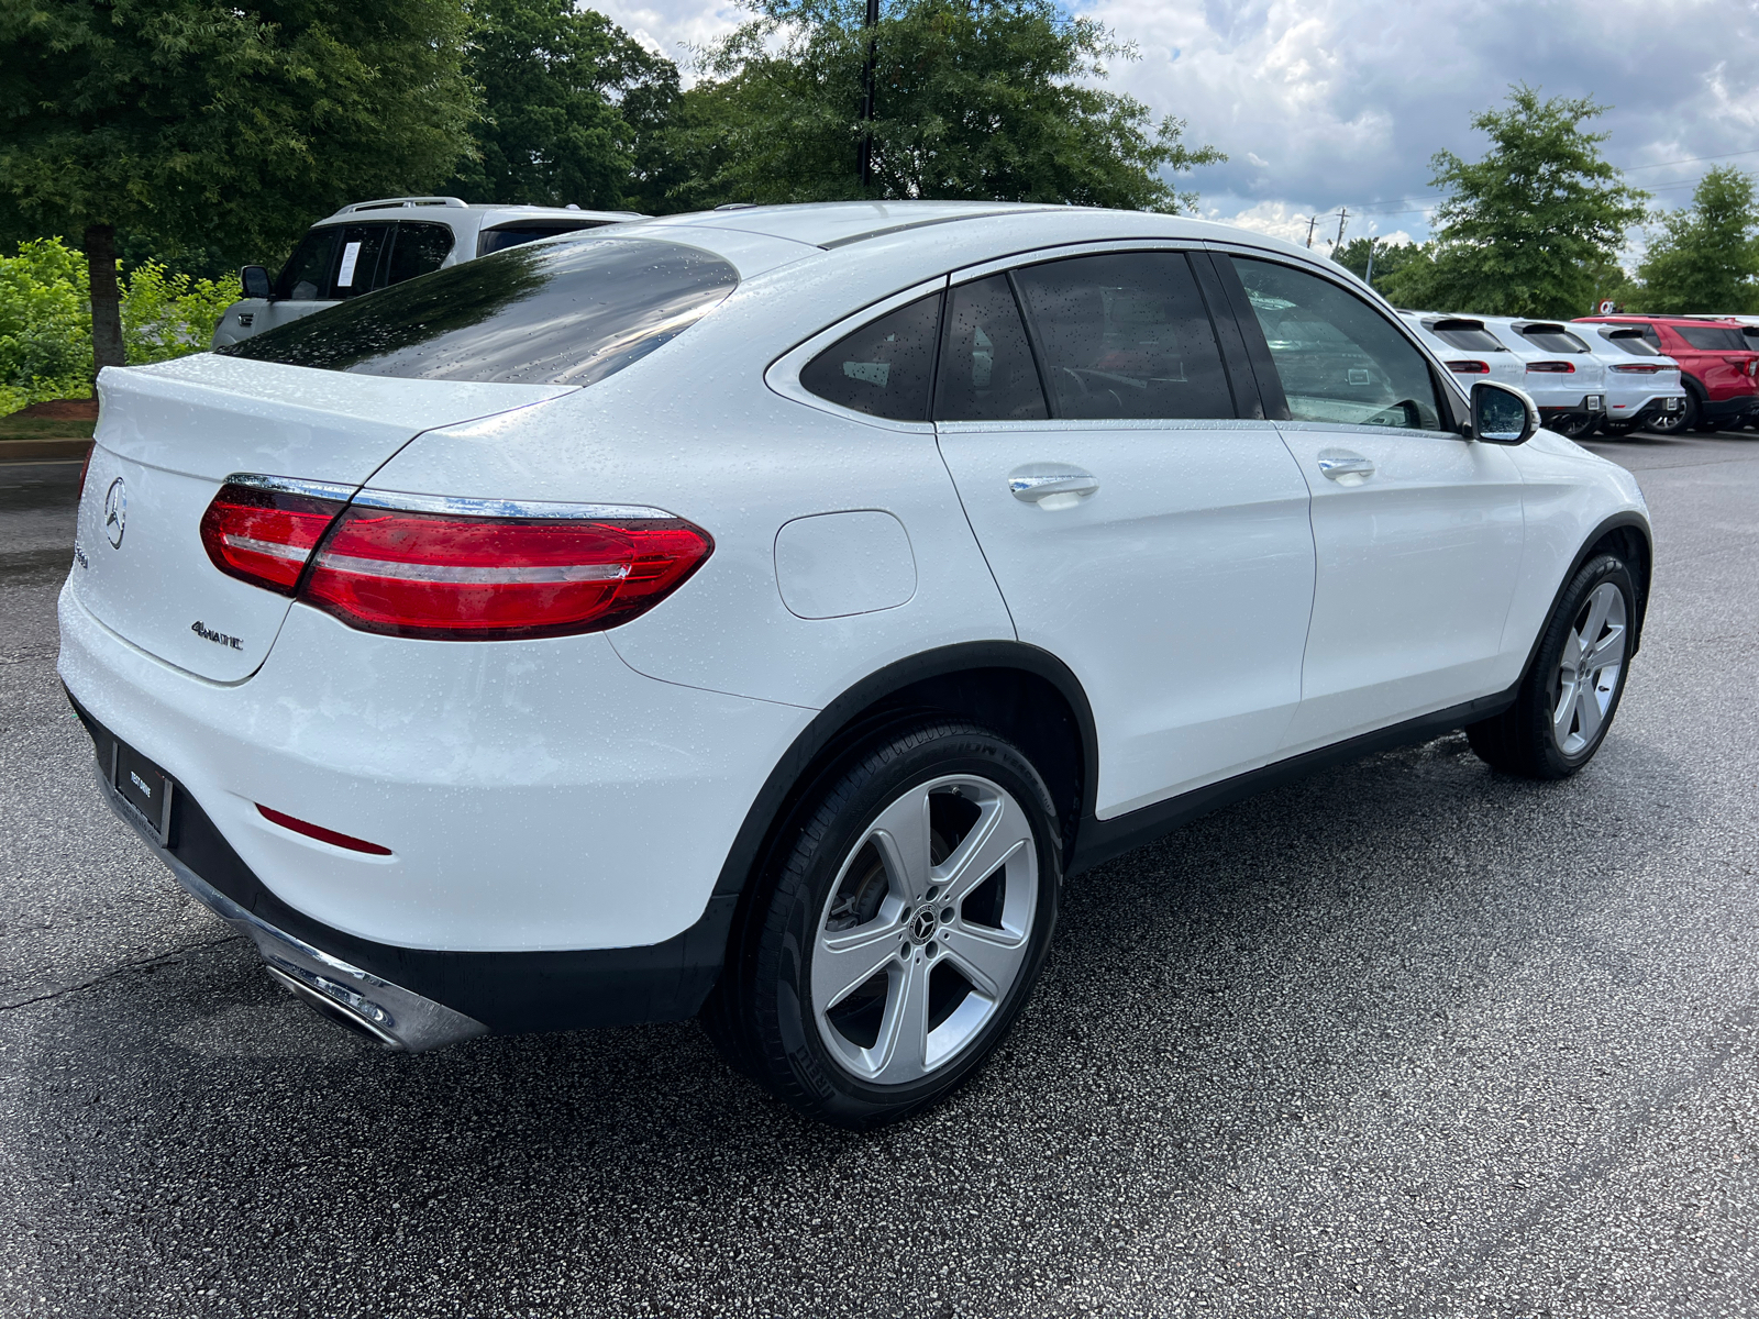
M1490 135L1483 160L1432 158L1432 181L1448 193L1435 211L1437 304L1514 317L1588 311L1592 269L1624 248L1646 200L1601 157L1606 134L1583 128L1602 113L1588 97L1539 100L1536 88L1516 86L1506 109L1472 118Z

